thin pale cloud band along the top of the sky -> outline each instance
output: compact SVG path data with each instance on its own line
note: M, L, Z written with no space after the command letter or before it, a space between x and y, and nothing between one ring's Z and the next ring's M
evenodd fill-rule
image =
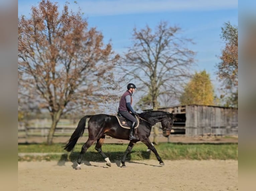
M66 0L58 1L60 8ZM69 7L77 11L78 7L88 16L123 15L134 13L153 13L163 11L205 11L238 8L238 1L234 0L89 0L70 3ZM19 16L24 14L26 1L19 3ZM30 3L31 5L31 3ZM30 10L30 6L27 4ZM28 10L27 10L28 11Z

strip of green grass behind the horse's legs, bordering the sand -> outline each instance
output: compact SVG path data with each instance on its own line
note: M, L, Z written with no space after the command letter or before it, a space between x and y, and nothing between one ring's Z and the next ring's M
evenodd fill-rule
M83 144L77 144L73 152L63 150L65 144L19 144L19 153L52 153L45 156L18 156L19 161L35 160L66 160L76 161ZM128 144L103 144L102 150L111 161L121 160ZM85 153L83 160L104 161L101 155L92 145ZM155 145L159 156L163 160L208 160L208 159L234 159L238 160L238 144L181 144L181 143L159 143ZM126 160L156 159L153 152L147 152L143 143L137 143ZM55 154L54 154L55 153ZM62 153L62 154L56 154Z

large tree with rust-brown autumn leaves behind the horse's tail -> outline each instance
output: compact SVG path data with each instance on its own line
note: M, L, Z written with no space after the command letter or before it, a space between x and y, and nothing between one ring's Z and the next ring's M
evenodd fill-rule
M67 4L60 14L57 3L42 0L31 7L29 19L18 20L18 58L20 98L29 97L51 115L48 144L64 113L108 101L113 95L103 90L117 88L111 70L118 55Z

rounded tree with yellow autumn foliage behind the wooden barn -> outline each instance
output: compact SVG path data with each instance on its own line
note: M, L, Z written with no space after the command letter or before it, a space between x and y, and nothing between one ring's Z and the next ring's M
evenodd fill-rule
M192 79L185 85L184 92L180 96L180 104L214 104L214 88L210 80L210 74L206 71L195 73Z

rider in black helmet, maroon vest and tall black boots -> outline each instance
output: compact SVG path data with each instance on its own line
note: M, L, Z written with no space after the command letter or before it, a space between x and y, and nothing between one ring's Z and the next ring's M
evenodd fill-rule
M135 91L136 86L132 83L127 85L127 91L122 95L119 102L118 112L123 115L126 119L132 122L130 128L129 140L137 139L134 136L134 127L136 126L136 118L134 117L137 113L132 108L132 94ZM131 114L132 113L132 114Z

